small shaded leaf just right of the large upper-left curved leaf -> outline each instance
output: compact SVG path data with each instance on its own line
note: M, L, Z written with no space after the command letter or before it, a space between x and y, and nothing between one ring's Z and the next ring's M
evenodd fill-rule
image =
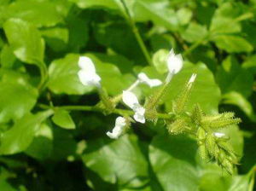
M41 31L45 42L49 47L55 51L61 51L67 48L68 30L67 28L54 27Z

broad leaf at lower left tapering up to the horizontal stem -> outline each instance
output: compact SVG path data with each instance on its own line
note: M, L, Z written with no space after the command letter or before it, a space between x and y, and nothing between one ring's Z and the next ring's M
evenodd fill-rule
M32 143L40 124L52 113L50 110L35 115L28 113L16 120L14 126L3 132L1 136L0 153L14 154L25 151Z

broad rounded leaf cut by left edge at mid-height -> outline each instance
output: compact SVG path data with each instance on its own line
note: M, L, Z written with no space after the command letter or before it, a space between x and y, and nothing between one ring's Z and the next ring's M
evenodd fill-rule
M0 122L20 119L34 107L38 90L28 84L26 78L16 72L1 71Z

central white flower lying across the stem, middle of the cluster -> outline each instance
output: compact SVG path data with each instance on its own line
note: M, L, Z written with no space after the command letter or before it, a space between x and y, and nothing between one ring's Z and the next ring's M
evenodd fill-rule
M139 104L137 96L135 96L135 94L133 94L131 91L123 91L123 101L135 112L133 118L137 122L144 124L146 121L144 117L145 108Z

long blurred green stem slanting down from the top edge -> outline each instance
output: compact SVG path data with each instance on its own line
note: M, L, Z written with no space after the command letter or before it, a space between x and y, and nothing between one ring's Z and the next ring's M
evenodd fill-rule
M123 4L124 8L125 8L125 13L127 14L125 16L125 19L128 21L128 23L130 24L131 28L132 28L132 32L134 33L135 38L137 39L137 43L139 44L140 48L143 51L143 55L146 59L146 61L148 61L148 64L153 66L153 62L151 60L151 56L148 53L148 49L145 45L145 43L143 42L143 38L141 37L140 33L137 30L137 26L134 22L134 20L131 17L130 11L128 9L128 7L125 4L124 0L121 0L121 3Z

